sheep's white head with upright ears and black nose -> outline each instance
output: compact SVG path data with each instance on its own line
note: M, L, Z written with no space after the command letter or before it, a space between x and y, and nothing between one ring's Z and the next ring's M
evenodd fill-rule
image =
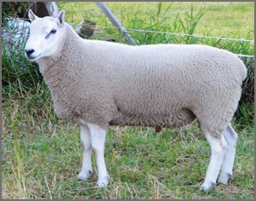
M28 17L31 21L30 33L25 46L25 56L30 61L53 56L59 47L59 40L64 27L64 11L55 17L40 18L29 9Z

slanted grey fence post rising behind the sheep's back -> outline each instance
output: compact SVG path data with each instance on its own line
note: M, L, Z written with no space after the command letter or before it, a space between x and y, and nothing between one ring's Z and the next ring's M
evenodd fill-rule
M99 6L99 8L103 11L105 15L107 15L107 18L109 21L113 23L115 27L119 29L119 32L123 35L125 40L132 45L136 45L137 43L131 38L131 35L127 33L125 30L125 27L121 25L119 20L113 15L112 11L107 8L106 4L103 2L96 2L96 4Z

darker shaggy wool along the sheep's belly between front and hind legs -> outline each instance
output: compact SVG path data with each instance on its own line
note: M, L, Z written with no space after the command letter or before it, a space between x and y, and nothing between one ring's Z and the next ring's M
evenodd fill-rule
M191 123L195 115L189 109L180 109L171 115L132 115L119 113L110 125L143 127L182 127Z

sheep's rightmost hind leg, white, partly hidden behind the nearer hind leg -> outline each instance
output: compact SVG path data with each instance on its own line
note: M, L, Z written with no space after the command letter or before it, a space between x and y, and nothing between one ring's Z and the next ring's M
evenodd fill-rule
M222 169L218 183L228 185L229 178L232 176L235 161L236 142L238 139L238 135L235 133L235 130L231 127L231 125L229 125L225 130L224 138L227 141L228 147L222 162Z

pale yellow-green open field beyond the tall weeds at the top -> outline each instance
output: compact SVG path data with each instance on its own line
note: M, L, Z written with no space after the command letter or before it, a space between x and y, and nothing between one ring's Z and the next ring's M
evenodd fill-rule
M163 21L165 27L169 27L174 21L176 15L185 18L187 10L193 5L195 12L204 9L204 18L200 21L197 34L210 33L213 36L233 37L234 35L241 38L247 38L249 32L254 32L254 3L244 2L218 2L218 3L162 3L162 12L158 17L160 20L169 18L169 21ZM83 18L97 22L97 25L109 26L111 23L107 21L101 10L95 3L59 3L60 9L67 11L67 19L73 22L80 22ZM159 14L159 3L107 3L107 7L113 10L114 15L127 28L135 27L136 15L146 23L137 27L143 29L149 24L149 19ZM166 12L165 12L166 11ZM139 23L139 21L137 21ZM169 24L168 24L169 23ZM206 26L207 25L207 26ZM161 30L160 30L161 31ZM237 33L239 33L237 35ZM248 39L253 39L253 33Z

